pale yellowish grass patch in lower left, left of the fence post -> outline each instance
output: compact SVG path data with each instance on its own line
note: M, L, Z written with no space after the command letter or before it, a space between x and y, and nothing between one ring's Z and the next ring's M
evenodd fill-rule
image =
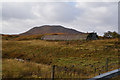
M50 77L51 67L34 62L21 62L15 59L3 59L3 78L44 78ZM47 73L46 73L47 72Z

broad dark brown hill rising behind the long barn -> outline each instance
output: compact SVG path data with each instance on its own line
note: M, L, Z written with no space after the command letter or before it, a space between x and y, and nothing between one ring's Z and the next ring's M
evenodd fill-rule
M39 27L34 27L20 35L38 35L38 34L51 34L51 33L79 34L82 32L79 32L74 29L65 28L60 25L43 25Z

